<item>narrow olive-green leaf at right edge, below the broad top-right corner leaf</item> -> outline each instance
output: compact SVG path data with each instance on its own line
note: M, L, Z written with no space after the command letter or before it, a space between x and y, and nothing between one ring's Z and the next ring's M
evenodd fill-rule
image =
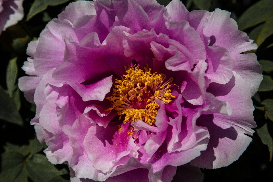
M273 13L271 16L266 20L262 31L260 32L256 44L259 47L270 35L273 34Z

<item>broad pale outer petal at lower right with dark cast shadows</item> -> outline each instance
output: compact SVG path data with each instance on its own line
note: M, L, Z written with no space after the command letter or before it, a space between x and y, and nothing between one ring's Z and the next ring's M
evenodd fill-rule
M253 135L251 127L256 127L253 120L253 104L251 93L246 82L233 72L235 86L228 90L228 86L213 84L209 90L219 100L226 100L233 109L232 115L201 115L197 125L206 126L210 132L208 148L201 152L201 156L194 159L191 164L208 169L228 166L245 151ZM228 90L228 92L227 92Z

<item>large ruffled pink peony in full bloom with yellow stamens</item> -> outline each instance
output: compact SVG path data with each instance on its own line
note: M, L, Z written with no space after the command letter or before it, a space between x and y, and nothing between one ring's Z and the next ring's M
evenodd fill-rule
M36 76L19 79L48 160L106 182L171 181L181 165L186 181L237 160L262 69L229 16L179 0L70 3L28 45L22 69Z

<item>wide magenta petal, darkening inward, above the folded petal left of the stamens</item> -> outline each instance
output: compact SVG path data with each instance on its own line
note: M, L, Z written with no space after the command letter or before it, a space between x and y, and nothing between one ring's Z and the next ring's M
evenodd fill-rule
M80 43L71 42L69 37L66 37L64 41L66 45L65 61L55 69L52 75L55 80L59 82L82 83L85 80L111 71L105 61L98 59L101 49L82 47ZM83 72L86 74L82 74Z

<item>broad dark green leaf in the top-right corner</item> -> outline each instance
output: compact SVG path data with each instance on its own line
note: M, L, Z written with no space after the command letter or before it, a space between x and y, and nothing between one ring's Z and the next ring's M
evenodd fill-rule
M265 22L273 11L272 0L262 0L249 9L237 20L239 30L245 30L252 26Z

